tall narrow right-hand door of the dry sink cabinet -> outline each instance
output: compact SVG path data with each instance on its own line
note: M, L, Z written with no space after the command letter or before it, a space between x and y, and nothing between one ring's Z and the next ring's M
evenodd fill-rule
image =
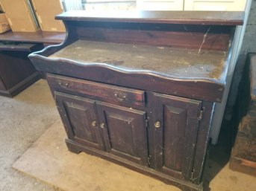
M163 94L153 94L152 100L152 167L189 179L202 102Z

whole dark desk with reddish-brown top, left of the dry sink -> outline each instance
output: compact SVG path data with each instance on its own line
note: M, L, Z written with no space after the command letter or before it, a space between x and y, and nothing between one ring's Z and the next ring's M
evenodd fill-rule
M0 94L13 97L40 79L40 74L28 59L28 54L46 45L60 44L65 33L7 33L0 34Z

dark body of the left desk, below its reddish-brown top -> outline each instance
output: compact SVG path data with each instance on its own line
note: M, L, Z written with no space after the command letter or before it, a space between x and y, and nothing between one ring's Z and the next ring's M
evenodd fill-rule
M13 97L40 79L28 54L42 48L42 44L6 45L0 41L0 95Z

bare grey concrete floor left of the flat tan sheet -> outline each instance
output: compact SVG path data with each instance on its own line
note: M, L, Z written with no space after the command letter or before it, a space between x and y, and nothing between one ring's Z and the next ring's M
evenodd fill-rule
M0 190L57 190L12 169L19 158L58 119L44 80L14 98L0 97Z

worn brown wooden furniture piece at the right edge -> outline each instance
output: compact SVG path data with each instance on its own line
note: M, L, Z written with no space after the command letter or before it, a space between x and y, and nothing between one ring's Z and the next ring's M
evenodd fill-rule
M256 176L255 64L256 54L249 54L237 97L237 115L233 119L234 126L239 126L231 153L230 168Z

